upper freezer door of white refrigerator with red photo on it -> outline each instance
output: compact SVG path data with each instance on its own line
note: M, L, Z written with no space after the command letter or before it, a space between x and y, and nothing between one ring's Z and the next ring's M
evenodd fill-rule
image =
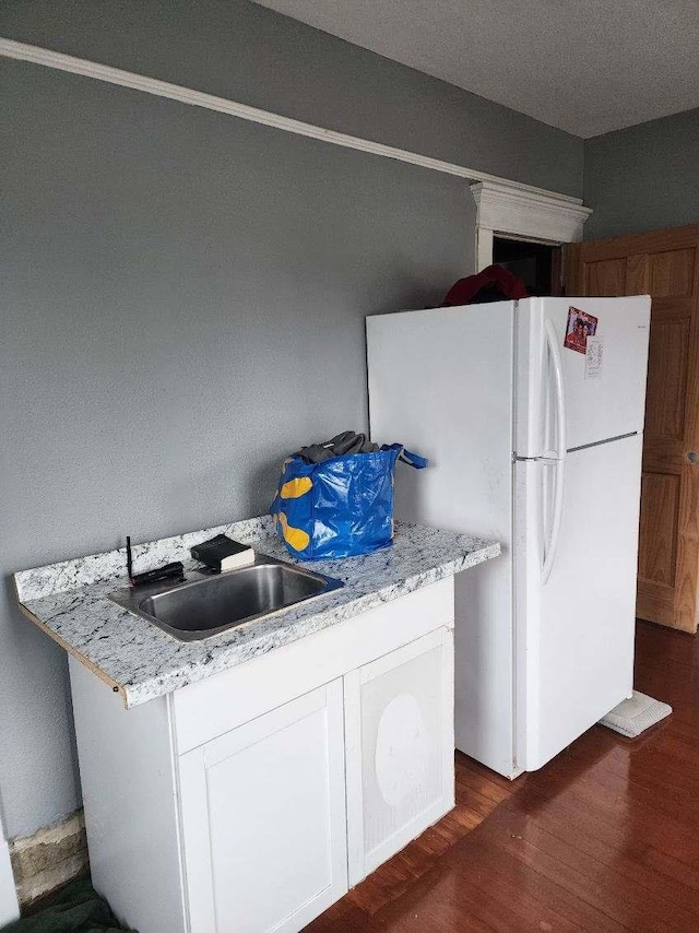
M577 320L576 309L597 321L597 345L588 353L564 345L570 317ZM519 302L516 318L518 457L544 457L557 446L555 368L547 340L552 328L561 363L567 449L643 429L648 296L525 298Z

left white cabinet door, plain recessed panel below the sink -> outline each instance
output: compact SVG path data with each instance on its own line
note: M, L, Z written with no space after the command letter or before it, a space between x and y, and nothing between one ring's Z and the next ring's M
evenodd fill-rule
M192 933L298 931L347 890L342 680L179 758Z

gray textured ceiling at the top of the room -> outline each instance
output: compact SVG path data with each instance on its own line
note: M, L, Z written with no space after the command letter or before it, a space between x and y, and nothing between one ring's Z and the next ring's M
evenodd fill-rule
M699 107L699 0L256 0L579 137Z

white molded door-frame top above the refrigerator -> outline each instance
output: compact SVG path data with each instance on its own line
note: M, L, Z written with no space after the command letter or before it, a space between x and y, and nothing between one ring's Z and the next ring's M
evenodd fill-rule
M538 243L577 243L582 239L592 208L552 192L525 191L509 182L476 181L476 272L493 263L493 237Z

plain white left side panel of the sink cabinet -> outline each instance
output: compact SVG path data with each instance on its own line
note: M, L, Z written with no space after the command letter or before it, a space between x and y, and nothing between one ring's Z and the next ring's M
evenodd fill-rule
M129 928L187 933L167 698L127 711L68 662L93 884Z

